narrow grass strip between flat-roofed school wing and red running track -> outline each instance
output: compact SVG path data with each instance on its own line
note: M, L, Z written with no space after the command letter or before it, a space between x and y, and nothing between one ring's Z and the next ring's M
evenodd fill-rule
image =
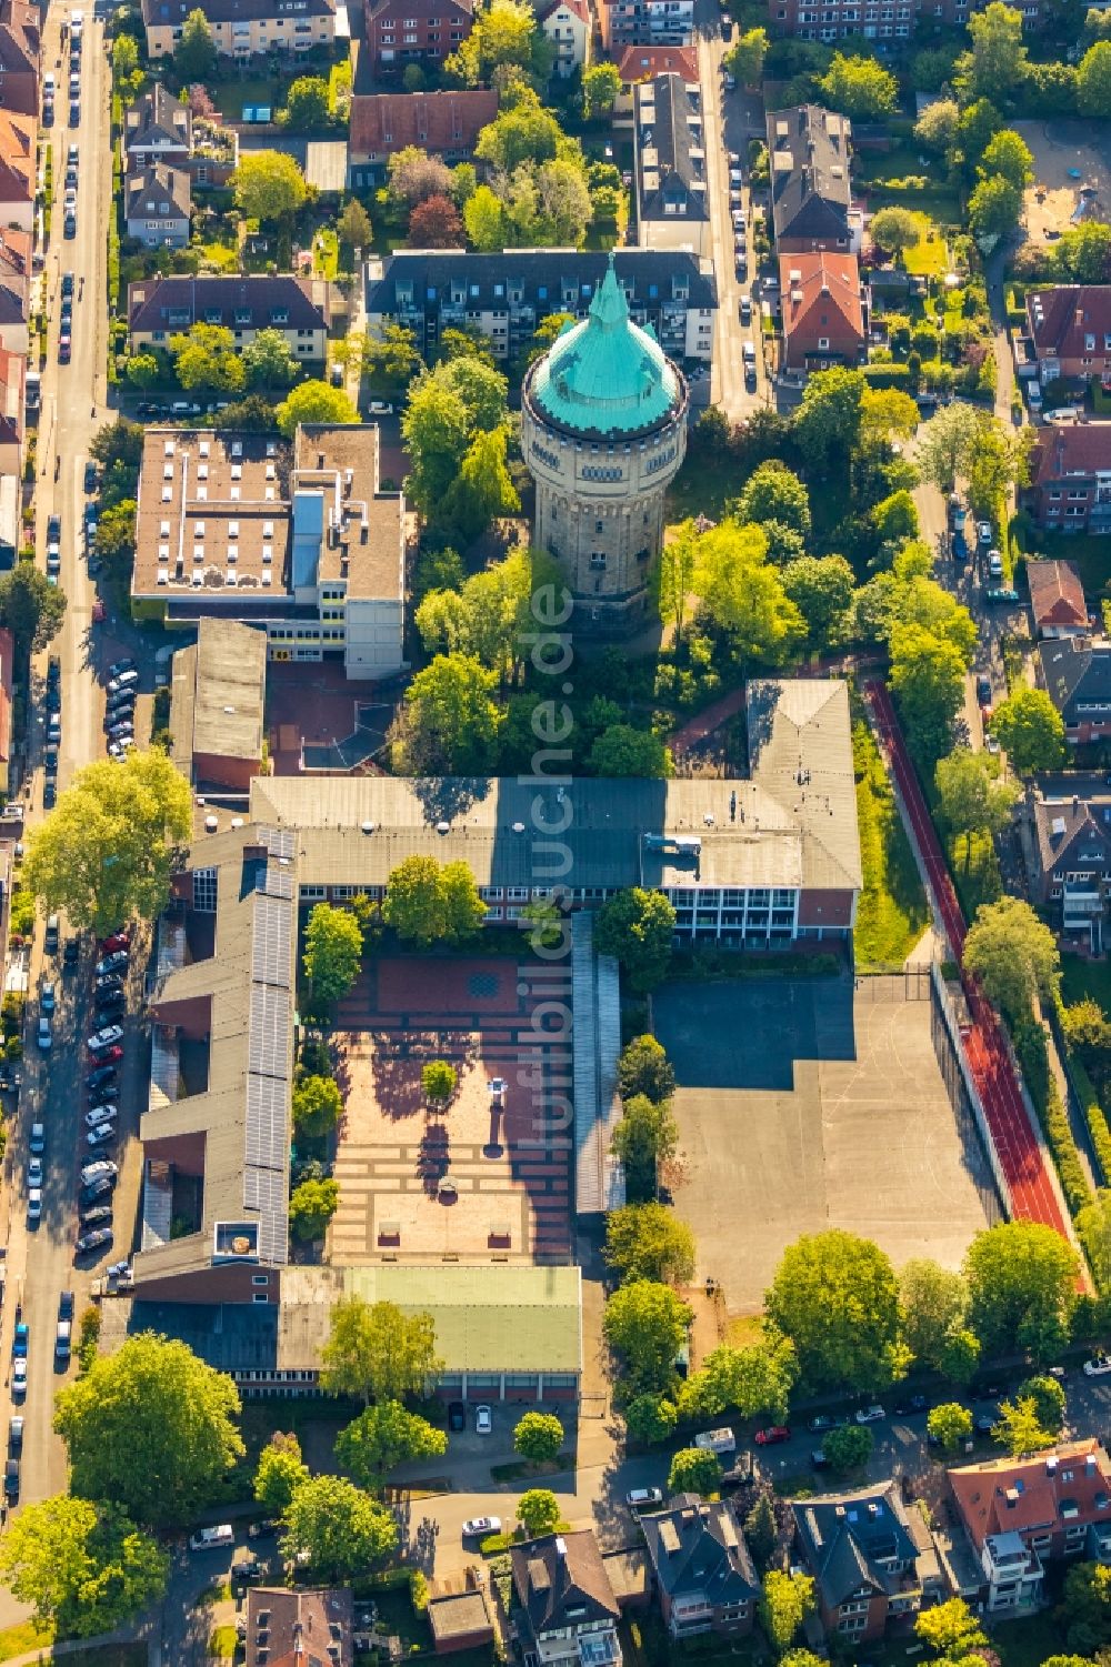
M859 972L891 972L917 944L929 909L887 772L862 718L852 728L852 762L864 865L852 935L856 965Z

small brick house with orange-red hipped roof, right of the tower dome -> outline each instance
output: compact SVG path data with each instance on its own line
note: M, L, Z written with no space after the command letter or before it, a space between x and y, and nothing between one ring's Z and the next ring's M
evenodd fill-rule
M856 365L867 352L867 320L856 255L827 250L779 257L782 362L791 370Z

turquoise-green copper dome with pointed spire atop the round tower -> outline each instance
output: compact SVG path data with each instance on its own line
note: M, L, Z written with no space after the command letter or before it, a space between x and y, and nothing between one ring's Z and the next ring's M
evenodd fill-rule
M629 318L611 255L589 315L569 325L537 363L532 400L561 428L609 435L657 427L679 397L662 347Z

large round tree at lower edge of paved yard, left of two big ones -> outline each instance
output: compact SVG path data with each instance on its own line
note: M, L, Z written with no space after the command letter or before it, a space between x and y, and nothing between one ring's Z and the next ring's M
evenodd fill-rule
M874 1390L904 1364L894 1270L879 1245L856 1234L797 1239L779 1259L764 1305L794 1344L811 1389Z

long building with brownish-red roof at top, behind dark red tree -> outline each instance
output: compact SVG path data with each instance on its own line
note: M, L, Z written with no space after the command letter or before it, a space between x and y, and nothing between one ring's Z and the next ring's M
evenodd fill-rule
M350 185L369 188L385 178L390 157L407 145L445 162L462 162L497 115L494 90L459 88L437 93L360 93L350 102L347 173Z

